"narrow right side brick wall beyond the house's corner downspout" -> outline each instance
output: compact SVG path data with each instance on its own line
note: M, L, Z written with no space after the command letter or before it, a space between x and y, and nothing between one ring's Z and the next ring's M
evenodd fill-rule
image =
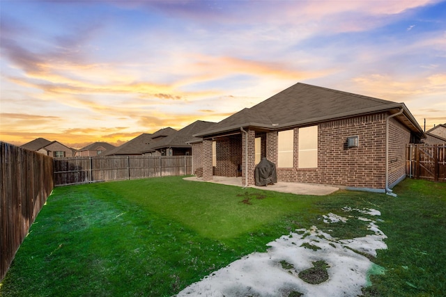
M408 131L395 118L389 120L389 186L406 176L406 145L410 143Z

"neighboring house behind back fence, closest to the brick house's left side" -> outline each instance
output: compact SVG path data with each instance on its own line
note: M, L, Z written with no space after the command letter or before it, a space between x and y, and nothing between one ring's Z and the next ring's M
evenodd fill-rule
M209 129L215 122L205 122L197 120L192 124L176 131L174 134L167 136L157 142L151 150L144 152L148 156L189 156L192 155L192 145L190 142L201 141L193 135L199 131Z

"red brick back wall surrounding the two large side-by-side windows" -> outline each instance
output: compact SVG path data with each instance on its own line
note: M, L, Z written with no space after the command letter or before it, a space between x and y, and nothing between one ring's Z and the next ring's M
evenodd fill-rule
M359 136L359 147L347 148L348 136ZM319 124L318 168L298 168L298 129L294 141L294 168L277 168L279 181L385 187L385 113Z

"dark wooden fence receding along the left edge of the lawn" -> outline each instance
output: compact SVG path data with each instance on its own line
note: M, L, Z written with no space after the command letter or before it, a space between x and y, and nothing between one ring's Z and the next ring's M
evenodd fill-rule
M0 280L53 189L53 159L0 142Z

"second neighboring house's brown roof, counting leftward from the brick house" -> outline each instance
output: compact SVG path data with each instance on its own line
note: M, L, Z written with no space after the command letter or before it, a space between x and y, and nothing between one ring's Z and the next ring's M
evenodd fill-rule
M160 129L153 134L143 133L132 140L120 145L112 150L107 150L104 153L105 156L118 156L118 155L142 155L143 152L151 150L151 147L155 146L163 138L174 134L176 129L167 127Z

